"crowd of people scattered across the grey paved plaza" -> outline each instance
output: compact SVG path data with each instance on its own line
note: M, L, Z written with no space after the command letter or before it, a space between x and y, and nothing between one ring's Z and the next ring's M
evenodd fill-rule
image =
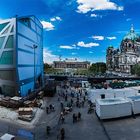
M85 107L85 103L87 101L87 92L82 88L72 88L70 86L60 86L58 95L58 102L60 102L60 119L59 123L63 126L64 123L67 122L67 115L71 114L72 123L76 123L82 120L82 113L80 112L80 108ZM77 109L79 111L75 112ZM89 104L89 108L92 108L92 104ZM54 111L54 105L50 104L46 107L46 113ZM89 109L88 109L89 112ZM65 139L65 128L60 128L58 139Z

